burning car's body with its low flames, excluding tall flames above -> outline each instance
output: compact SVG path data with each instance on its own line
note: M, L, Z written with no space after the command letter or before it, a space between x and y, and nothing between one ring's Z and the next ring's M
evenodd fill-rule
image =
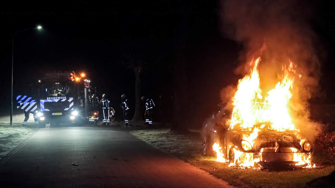
M262 124L251 131L233 130L216 122L203 130L203 154L216 155L217 161L240 168L278 170L310 165L312 147L306 137L296 130L273 131L268 127Z

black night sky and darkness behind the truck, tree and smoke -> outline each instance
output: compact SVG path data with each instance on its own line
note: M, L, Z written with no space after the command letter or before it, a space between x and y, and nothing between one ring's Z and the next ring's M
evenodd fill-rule
M310 3L318 12L310 23L326 54L320 57L320 97L312 101L333 104L334 2ZM20 32L14 38L14 96L45 72L74 70L86 72L98 95L107 93L115 107L123 93L134 103L135 74L121 61L123 47L138 39L142 41L135 42L139 48L147 41L161 57L145 69L143 78L143 94L155 102L159 95L174 95L181 74L176 67L182 62L188 100L185 115L192 125L201 125L220 104L220 90L241 78L234 69L243 44L220 32L218 1L53 1L3 4L0 10L0 107L5 114L10 110L12 35L37 25L43 29Z

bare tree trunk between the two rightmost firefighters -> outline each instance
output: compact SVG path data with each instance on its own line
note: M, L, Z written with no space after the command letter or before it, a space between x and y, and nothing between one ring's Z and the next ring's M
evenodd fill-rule
M135 72L135 113L131 121L139 122L143 121L143 109L141 105L143 68L137 67L134 69L134 72Z

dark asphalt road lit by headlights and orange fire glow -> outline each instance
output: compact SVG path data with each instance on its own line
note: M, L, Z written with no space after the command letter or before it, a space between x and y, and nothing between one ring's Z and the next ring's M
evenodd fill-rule
M226 182L135 138L126 129L41 129L0 162L0 185L230 187Z

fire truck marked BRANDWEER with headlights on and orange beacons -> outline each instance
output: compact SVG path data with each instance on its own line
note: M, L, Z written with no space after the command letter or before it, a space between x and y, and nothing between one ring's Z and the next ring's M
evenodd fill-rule
M40 128L46 124L84 124L95 117L98 107L96 88L90 85L85 73L56 71L32 84L32 93L37 103Z

